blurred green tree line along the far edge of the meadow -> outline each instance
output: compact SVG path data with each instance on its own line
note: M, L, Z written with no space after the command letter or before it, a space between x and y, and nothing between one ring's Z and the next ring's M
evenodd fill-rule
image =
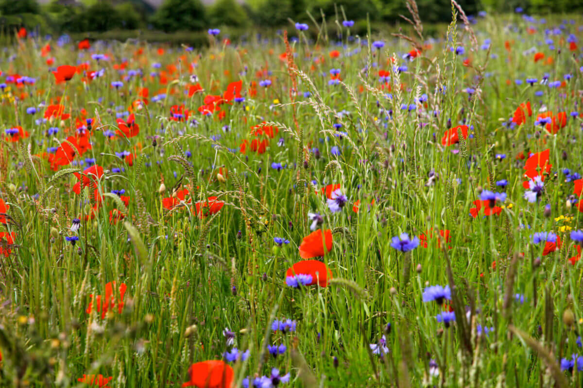
M480 10L512 12L520 7L527 13L581 12L583 0L458 0L468 15ZM449 0L417 0L420 17L427 23L451 21ZM154 10L143 0L53 0L39 5L36 0L0 0L0 23L5 31L19 26L40 26L58 33L109 30L157 30L164 32L204 30L229 26L289 26L289 20L308 22L312 18L391 23L408 15L405 0L216 0L205 6L201 0L165 0Z

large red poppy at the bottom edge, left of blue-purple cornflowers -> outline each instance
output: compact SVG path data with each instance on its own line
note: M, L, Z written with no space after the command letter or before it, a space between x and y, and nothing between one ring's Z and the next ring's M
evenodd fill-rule
M196 362L188 368L188 375L190 381L182 384L182 387L231 388L233 386L233 368L224 361Z

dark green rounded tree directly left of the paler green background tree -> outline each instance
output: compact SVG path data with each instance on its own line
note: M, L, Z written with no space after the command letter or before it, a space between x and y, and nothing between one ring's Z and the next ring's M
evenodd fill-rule
M152 24L166 32L202 30L208 26L200 0L166 0L154 13Z

